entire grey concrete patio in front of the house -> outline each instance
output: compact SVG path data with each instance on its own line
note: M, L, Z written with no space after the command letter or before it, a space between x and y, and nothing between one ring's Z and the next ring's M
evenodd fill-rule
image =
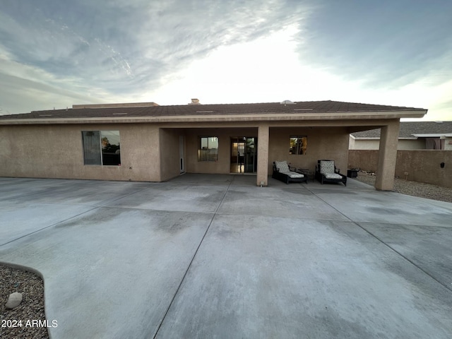
M255 179L0 178L0 262L52 339L451 338L452 203Z

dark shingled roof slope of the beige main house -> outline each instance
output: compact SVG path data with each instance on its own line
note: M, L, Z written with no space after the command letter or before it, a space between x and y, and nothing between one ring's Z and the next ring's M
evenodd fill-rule
M33 111L25 114L11 114L0 116L1 121L14 119L52 120L52 119L91 119L91 118L119 118L119 117L190 117L190 116L221 116L233 114L347 114L357 113L365 115L370 113L393 112L395 114L408 115L425 114L426 109L414 107L397 107L388 105L369 105L353 102L336 101L309 101L309 102L269 102L254 104L221 104L221 105L169 105L159 106L151 102L146 107L137 104L126 104L126 107L118 107L121 104L112 105L74 105L72 109L52 109L45 111Z

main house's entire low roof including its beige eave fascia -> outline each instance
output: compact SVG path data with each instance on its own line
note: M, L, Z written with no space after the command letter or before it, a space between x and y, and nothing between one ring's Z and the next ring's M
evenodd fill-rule
M74 105L0 116L0 124L90 124L140 122L213 122L323 119L399 119L424 117L427 109L338 101L267 102L254 104L145 106L139 103Z

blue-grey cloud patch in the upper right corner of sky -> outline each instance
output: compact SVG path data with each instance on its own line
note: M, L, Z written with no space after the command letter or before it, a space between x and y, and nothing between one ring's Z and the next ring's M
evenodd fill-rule
M450 1L323 1L310 18L310 48L300 52L346 79L396 87L448 52L451 11Z

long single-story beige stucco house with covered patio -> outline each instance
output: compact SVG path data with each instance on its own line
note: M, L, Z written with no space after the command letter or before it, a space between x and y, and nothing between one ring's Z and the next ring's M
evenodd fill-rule
M350 133L381 129L376 189L393 189L399 121L427 109L316 101L74 105L0 116L0 176L163 182L184 172L255 174L272 162L347 170Z

